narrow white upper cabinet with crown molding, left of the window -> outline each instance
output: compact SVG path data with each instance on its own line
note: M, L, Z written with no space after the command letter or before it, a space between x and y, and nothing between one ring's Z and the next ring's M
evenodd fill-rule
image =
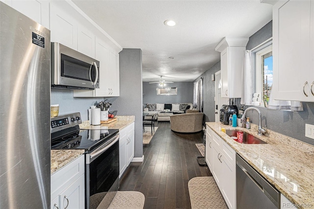
M248 41L247 37L225 37L215 48L220 52L221 97L241 97L244 51Z

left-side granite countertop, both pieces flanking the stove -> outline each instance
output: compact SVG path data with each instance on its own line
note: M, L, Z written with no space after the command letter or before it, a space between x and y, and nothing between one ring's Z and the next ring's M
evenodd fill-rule
M79 125L80 129L123 129L135 121L134 116L116 116L118 120L103 124L101 126L91 126L89 121ZM84 154L85 150L51 150L51 174L72 160Z

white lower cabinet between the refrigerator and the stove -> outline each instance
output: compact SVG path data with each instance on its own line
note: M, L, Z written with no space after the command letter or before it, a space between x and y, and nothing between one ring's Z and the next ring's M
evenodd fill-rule
M51 209L85 208L85 156L51 175Z

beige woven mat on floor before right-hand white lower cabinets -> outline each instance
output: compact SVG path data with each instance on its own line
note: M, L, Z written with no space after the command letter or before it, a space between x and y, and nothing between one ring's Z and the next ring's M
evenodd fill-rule
M192 209L227 209L213 177L195 177L187 185Z

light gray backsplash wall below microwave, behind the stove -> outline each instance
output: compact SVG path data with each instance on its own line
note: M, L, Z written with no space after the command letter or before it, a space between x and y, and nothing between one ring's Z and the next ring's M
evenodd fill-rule
M87 109L104 98L75 98L73 90L52 89L51 104L59 104L59 115L80 112L82 121L87 121Z

